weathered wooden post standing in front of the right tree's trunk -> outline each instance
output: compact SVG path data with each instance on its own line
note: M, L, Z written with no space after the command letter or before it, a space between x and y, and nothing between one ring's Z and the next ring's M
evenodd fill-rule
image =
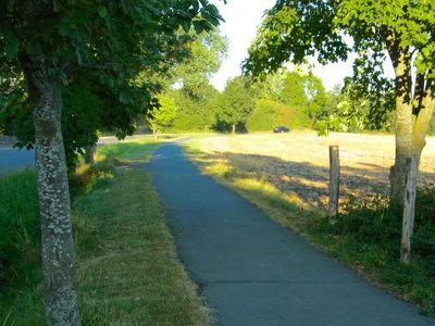
M409 264L411 254L411 237L414 228L417 174L415 158L407 158L407 189L403 198L403 220L401 225L400 262Z

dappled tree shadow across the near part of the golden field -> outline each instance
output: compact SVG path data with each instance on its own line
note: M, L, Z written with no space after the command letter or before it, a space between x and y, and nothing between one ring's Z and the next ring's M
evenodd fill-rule
M288 201L306 209L327 208L330 170L326 166L232 152L195 153L194 159L201 163L207 173L224 177L247 188L245 190L249 190L249 185L252 189L262 185L269 188L269 192L275 189ZM388 167L364 162L353 165L343 164L340 167L341 201L350 197L364 199L373 193L388 193ZM424 183L435 181L435 174L421 173L420 179Z

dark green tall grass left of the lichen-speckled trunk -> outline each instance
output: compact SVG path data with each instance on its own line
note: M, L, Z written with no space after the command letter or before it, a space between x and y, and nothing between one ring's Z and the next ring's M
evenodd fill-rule
M0 323L14 309L24 315L42 310L37 285L40 271L40 227L36 174L24 171L0 177ZM44 315L34 323L44 325ZM24 323L20 323L24 325Z

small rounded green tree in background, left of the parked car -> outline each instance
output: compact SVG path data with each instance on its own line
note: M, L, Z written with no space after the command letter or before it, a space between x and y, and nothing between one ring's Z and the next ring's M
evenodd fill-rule
M246 123L253 108L254 102L248 79L235 77L226 84L221 95L217 120L232 126L234 131L237 125Z

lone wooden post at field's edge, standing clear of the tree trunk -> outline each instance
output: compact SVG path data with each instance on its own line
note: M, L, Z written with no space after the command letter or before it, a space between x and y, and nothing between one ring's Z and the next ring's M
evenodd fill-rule
M330 223L334 224L338 214L339 197L339 149L338 146L330 146L330 205L327 215Z

